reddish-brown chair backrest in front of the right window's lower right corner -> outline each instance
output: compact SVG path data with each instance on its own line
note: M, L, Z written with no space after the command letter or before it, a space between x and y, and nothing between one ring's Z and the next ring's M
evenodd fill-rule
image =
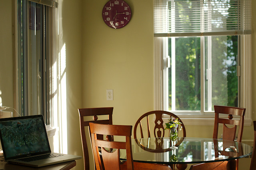
M239 126L237 142L241 142L244 128L245 108L230 106L214 106L215 120L213 138L218 138L218 126L223 124L223 140L234 140L236 136L236 126ZM228 118L220 118L220 114L226 114ZM240 116L240 120L233 120L233 116ZM229 128L226 124L234 125Z

